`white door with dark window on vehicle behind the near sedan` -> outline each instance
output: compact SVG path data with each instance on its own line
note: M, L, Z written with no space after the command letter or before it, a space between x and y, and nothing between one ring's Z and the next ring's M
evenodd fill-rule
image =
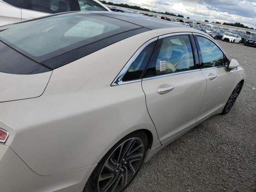
M25 0L22 5L22 20L72 11L70 0Z

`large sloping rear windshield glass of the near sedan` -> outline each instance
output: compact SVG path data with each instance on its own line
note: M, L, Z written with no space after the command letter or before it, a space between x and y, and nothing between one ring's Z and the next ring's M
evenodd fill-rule
M135 28L140 26L97 14L77 12L0 27L0 40L43 62Z

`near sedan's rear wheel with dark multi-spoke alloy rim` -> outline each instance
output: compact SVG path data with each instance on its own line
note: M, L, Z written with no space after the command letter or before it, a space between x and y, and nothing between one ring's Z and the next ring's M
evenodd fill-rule
M145 132L124 137L102 158L83 192L122 192L140 170L147 149Z

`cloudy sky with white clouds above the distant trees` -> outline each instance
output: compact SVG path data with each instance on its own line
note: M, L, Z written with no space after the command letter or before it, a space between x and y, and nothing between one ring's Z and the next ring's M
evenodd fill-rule
M106 0L150 10L182 14L196 20L241 22L256 28L256 0Z

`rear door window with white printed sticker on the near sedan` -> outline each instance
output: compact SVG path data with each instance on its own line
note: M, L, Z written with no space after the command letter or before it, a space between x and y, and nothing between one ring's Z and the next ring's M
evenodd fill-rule
M194 69L189 36L170 36L158 40L144 78Z

